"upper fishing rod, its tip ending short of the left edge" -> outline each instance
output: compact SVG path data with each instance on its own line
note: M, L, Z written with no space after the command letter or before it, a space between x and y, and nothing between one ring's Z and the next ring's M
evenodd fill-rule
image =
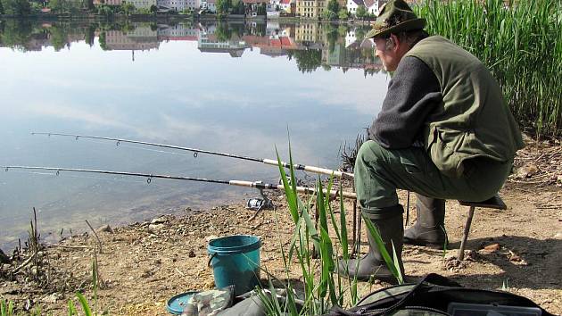
M149 143L149 142L143 142L143 141L139 141L139 140L112 138L112 137L97 137L97 136L87 136L87 135L73 135L73 134L62 134L62 133L45 133L45 132L41 132L41 133L32 132L31 135L46 135L46 136L49 136L49 137L50 136L75 137L76 140L78 140L79 138L111 140L111 141L117 142L117 144L116 144L117 146L119 146L120 143L156 146L156 147L164 147L164 148L186 150L186 151L189 151L189 152L193 152L194 157L197 157L197 154L199 154L199 153L214 154L214 155L219 155L219 156L223 156L223 157L243 159L243 160L247 160L247 161L251 161L251 162L262 162L262 163L266 163L266 164L269 164L269 165L278 166L277 160L274 160L274 159L253 158L253 157L243 156L243 155L239 155L239 154L219 153L219 152L212 152L210 150L203 150L203 149L198 149L198 148L189 148L189 147L183 147L183 146L173 146L173 145L167 145L167 144ZM281 165L285 168L291 168L291 164L287 163L287 162L281 162ZM353 179L353 173L343 172L343 171L339 171L339 170L330 170L330 169L314 167L314 166L307 166L307 165L300 164L300 163L293 163L293 169L294 170L305 170L305 171L309 171L309 172L313 172L313 173L325 174L325 175L328 175L328 176L334 175L335 177L340 177L340 178L343 178L343 179Z

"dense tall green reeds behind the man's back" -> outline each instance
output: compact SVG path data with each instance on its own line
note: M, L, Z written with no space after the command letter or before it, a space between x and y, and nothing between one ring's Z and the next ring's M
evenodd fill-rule
M484 62L508 106L537 136L562 135L562 4L552 0L426 0L413 8Z

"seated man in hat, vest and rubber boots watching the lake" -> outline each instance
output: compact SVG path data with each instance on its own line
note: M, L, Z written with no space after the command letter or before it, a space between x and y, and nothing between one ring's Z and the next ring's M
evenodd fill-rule
M361 212L395 249L403 274L403 243L442 248L445 199L492 198L523 147L498 82L474 55L444 37L428 36L426 20L404 0L381 9L372 38L384 70L393 72L381 112L355 162ZM404 231L396 189L417 195L417 222ZM358 279L393 279L374 237L360 262L339 262Z

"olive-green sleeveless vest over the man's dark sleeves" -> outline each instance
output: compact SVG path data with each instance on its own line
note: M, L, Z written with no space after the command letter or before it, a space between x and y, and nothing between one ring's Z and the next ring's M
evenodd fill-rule
M426 150L439 170L461 177L467 159L513 159L523 147L521 132L500 85L482 62L440 36L422 39L406 56L426 62L441 86L442 104L424 128Z

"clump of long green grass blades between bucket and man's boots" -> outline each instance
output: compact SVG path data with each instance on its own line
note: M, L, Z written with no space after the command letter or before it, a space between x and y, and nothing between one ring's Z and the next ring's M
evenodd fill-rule
M340 254L344 261L349 260L350 254L343 196L341 194L339 196L340 213L338 217L329 196L324 193L330 192L334 179L327 182L326 191L324 191L322 181L318 179L316 194L309 196L308 201L304 203L296 193L296 181L287 180L278 153L277 159L285 187L285 198L295 226L288 250L285 251L285 248L281 246L286 274L285 299L281 300L277 295L265 295L263 291L260 294L268 315L320 315L326 313L334 305L356 304L359 301L358 280L340 276L336 268ZM293 166L290 144L289 162ZM293 168L290 169L289 177L295 179ZM342 192L341 182L339 191ZM318 214L318 224L311 219L310 212L312 211L316 211ZM368 222L370 223L370 221ZM379 250L386 254L387 266L396 272L394 276L401 283L400 269L397 264L394 265L392 258L386 252L378 231L373 225L368 229L381 241L379 246L382 248L379 247ZM330 237L329 230L334 231L335 237ZM319 254L318 260L314 259L315 253ZM395 253L394 260L396 260ZM290 278L290 271L294 264L298 266L296 269L300 268L299 272L302 274L299 284L293 284ZM299 288L302 291L300 295L297 295L296 287L302 287ZM269 279L269 290L272 294L276 293L271 278Z

